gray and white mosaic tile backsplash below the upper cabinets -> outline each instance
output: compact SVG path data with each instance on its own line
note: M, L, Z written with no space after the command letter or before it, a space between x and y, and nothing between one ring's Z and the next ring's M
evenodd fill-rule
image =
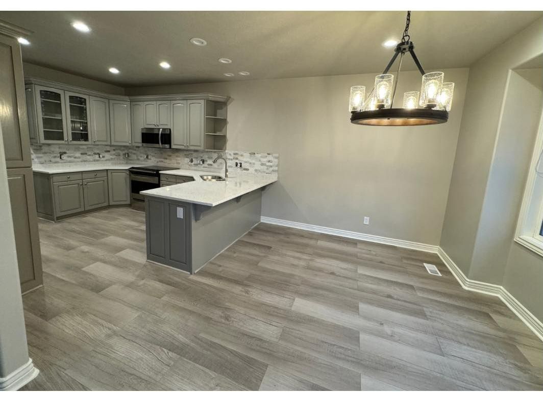
M235 162L241 162L242 171L256 174L276 174L279 166L279 154L234 150L219 153L112 145L30 144L30 151L32 162L36 164L148 161L149 164L167 164L179 166L180 168L197 169L222 166L222 161L213 164L213 159L218 155L222 155L228 162L229 170L237 169ZM65 152L63 160L60 160L60 152ZM98 157L98 154L102 157ZM190 162L191 158L192 163ZM201 159L204 159L204 164L199 163Z

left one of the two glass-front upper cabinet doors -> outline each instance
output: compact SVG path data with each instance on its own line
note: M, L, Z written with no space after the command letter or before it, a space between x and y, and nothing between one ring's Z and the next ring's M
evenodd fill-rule
M51 87L36 86L35 93L40 142L67 143L64 91Z

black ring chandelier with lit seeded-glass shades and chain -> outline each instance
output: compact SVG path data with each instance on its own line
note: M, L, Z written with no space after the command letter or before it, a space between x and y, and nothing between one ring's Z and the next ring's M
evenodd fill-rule
M411 11L407 11L406 27L400 43L394 49L394 56L383 73L375 77L374 88L365 97L365 86L352 86L349 99L351 123L369 126L419 126L445 123L449 119L454 91L453 82L443 82L442 72L426 73L415 55L415 46L409 37ZM403 93L401 108L393 108L396 87L400 78L403 55L409 53L422 75L420 92ZM388 74L390 67L400 56L396 73Z

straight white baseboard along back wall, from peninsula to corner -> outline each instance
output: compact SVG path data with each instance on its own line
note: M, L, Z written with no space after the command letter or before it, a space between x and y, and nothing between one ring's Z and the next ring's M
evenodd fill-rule
M297 221L268 218L266 216L262 216L260 218L260 221L262 221L262 223L269 223L269 224L276 224L278 226L299 228L300 230L330 234L332 236L359 239L362 241L375 242L377 244L405 247L406 249L420 250L422 252L437 253L438 251L438 247L436 245L428 245L428 244L422 244L419 242L406 241L402 239L374 236L371 234L357 233L354 231L339 230L338 228L315 226L313 224L299 223Z

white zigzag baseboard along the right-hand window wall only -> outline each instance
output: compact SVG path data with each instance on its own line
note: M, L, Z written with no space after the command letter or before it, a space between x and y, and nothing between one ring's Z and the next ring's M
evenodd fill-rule
M543 341L543 323L538 320L525 306L523 306L519 300L517 300L509 291L507 291L503 286L497 284L491 284L486 282L473 281L464 275L464 273L454 264L453 260L445 253L441 247L438 249L438 256L443 263L449 268L454 277L460 285L471 291L477 291L477 293L489 294L493 296L500 297L500 300L506 306L513 311L515 315L528 326L532 332L538 336L540 340Z

